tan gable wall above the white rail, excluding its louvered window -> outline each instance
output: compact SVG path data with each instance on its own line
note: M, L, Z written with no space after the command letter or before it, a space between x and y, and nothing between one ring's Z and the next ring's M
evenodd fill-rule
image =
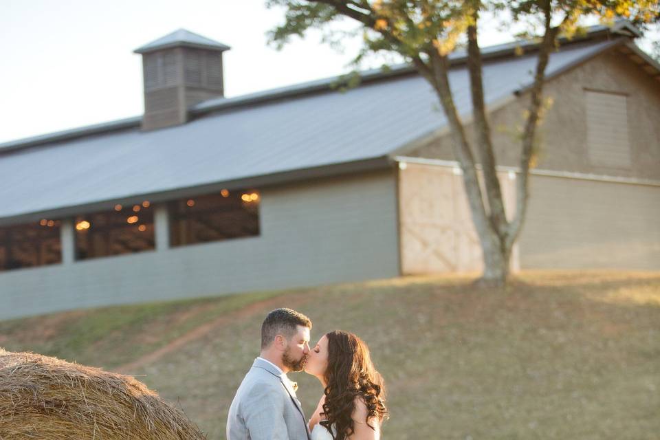
M589 162L585 89L626 95L629 168ZM619 50L600 54L549 80L544 94L553 99L553 105L539 130L537 168L660 180L660 83L625 54ZM529 94L523 94L490 114L498 164L518 165L520 142L513 133L516 126L522 126L528 102ZM474 139L472 129L467 132ZM403 155L454 160L448 135Z

